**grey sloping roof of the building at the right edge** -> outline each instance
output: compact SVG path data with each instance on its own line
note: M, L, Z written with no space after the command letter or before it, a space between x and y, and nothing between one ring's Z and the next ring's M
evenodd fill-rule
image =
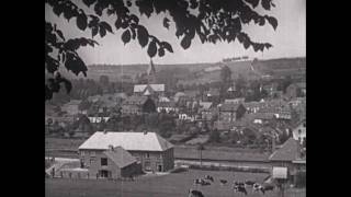
M269 158L271 161L295 161L301 159L301 147L293 138L287 139L283 146L275 150Z

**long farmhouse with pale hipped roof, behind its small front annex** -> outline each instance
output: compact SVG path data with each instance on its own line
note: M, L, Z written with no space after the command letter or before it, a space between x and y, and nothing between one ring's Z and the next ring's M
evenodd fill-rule
M97 131L79 147L81 165L91 166L109 147L122 147L144 171L166 172L174 166L173 146L156 132Z

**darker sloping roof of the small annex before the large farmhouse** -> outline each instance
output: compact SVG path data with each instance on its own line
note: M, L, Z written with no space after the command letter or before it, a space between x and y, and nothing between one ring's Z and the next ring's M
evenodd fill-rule
M136 162L136 159L122 147L115 147L113 150L106 150L103 154L105 154L121 169Z

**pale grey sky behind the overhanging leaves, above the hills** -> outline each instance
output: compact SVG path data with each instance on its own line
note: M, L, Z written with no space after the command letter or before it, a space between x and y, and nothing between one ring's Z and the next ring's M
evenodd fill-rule
M174 35L174 23L170 22L169 30L162 26L162 20L167 15L152 15L150 19L141 16L139 23L145 25L150 34L172 45L173 53L166 51L163 57L152 58L157 65L217 62L223 58L240 56L259 59L306 57L306 0L273 0L273 2L276 7L263 14L278 19L275 31L271 25L251 24L244 27L252 40L273 45L263 53L254 53L252 47L245 49L237 40L230 44L202 44L197 36L192 40L191 47L185 50L180 46L181 39ZM258 11L262 13L261 9ZM45 20L56 23L66 38L91 37L90 30L83 32L77 28L76 19L68 23L64 18L57 18L48 5L45 5ZM121 39L122 31L115 31L112 19L105 20L114 28L114 34L107 34L103 38L95 36L94 39L100 44L99 46L83 47L78 50L87 65L132 65L150 61L147 47L141 48L137 39L124 45Z

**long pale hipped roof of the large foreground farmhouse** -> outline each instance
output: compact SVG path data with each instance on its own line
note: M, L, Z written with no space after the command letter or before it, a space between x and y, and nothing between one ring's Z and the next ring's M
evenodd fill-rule
M121 146L127 151L165 151L173 147L156 132L97 131L79 149L106 150L109 146Z

